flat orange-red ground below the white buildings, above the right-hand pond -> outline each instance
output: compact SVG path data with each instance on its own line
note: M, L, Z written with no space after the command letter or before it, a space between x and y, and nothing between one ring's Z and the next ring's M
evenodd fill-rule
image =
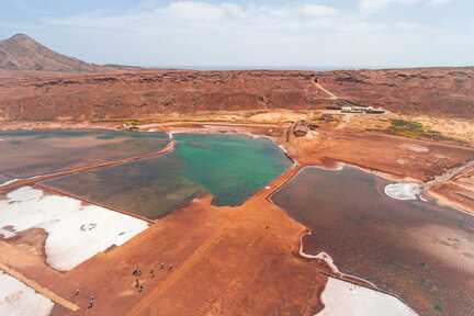
M292 138L287 146L302 165L341 161L419 181L474 160L470 147L361 131L321 129L315 138Z

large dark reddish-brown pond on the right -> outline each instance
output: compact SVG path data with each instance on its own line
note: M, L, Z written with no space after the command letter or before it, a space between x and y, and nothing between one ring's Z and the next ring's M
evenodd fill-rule
M391 182L357 168L304 168L272 200L345 273L397 294L419 315L474 315L474 217L433 202L396 201Z

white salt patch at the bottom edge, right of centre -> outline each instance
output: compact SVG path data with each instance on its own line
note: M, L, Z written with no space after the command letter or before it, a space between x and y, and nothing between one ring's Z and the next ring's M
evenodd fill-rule
M328 279L321 301L325 308L318 316L417 315L394 296L332 278Z

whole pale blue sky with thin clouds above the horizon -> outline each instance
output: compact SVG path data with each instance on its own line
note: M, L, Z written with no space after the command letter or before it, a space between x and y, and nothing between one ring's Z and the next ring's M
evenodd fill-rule
M473 12L472 0L2 0L0 38L149 67L473 66Z

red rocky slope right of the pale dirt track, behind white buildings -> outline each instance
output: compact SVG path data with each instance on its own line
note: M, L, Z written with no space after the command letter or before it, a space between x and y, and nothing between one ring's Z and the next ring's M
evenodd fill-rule
M404 114L474 117L474 67L319 72L338 97Z

